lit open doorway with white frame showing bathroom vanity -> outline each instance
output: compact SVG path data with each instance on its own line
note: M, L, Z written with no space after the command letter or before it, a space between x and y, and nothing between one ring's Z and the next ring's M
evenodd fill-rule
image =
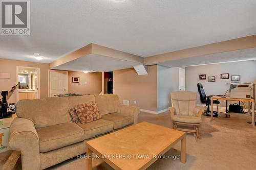
M16 83L18 84L16 102L40 98L40 68L17 66Z

